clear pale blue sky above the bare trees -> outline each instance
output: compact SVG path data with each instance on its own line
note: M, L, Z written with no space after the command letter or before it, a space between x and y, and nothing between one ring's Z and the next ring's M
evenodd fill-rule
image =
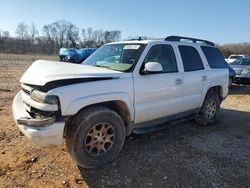
M122 38L180 35L218 44L250 42L250 0L1 0L0 30L67 20Z

